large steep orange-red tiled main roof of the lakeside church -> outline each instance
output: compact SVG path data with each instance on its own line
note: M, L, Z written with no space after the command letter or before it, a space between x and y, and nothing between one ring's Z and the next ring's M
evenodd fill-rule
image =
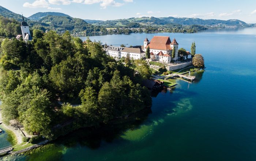
M150 49L172 50L170 43L170 37L154 36L145 48L149 46Z

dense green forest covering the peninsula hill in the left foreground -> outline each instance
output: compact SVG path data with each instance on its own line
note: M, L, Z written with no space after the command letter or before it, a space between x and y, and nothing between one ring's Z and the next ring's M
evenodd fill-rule
M15 119L29 133L53 138L67 121L69 130L97 126L151 106L140 85L150 75L146 61L116 62L100 42L34 30L31 42L1 42L1 113L6 123Z

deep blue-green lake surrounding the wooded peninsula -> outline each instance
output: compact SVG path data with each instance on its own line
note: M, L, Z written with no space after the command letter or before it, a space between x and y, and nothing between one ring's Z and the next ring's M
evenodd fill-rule
M153 93L153 105L130 120L80 129L28 156L47 161L247 161L256 160L256 28L194 34L103 35L108 45L142 45L154 35L176 38L179 48L205 59L192 84ZM82 37L85 40L86 37ZM123 122L122 122L123 121Z

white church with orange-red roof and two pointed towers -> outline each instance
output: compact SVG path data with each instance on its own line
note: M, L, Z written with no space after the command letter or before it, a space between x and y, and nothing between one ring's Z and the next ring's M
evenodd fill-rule
M170 37L166 36L154 36L151 41L148 41L146 38L144 40L144 51L147 50L147 47L150 48L150 53L154 54L154 57L151 56L151 59L155 59L161 62L170 63L171 60L177 61L180 59L178 57L178 43L174 38L171 42ZM172 50L175 48L175 58L172 59Z

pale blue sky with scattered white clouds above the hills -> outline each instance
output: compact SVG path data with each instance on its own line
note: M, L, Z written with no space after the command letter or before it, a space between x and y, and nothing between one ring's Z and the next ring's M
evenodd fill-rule
M26 17L62 12L93 20L173 16L256 23L256 0L0 0L0 5Z

